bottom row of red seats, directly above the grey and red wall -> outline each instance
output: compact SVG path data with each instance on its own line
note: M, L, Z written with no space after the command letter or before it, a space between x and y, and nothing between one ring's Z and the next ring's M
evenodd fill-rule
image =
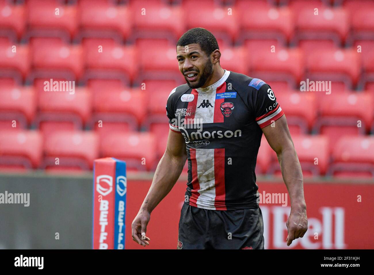
M155 134L116 132L100 137L93 131L59 131L44 137L39 131L1 131L0 168L47 170L92 169L93 160L113 156L126 159L131 171L152 171L156 168L166 140ZM344 136L329 144L324 135L293 137L305 175L337 175L374 177L374 136ZM334 146L332 146L334 145ZM332 157L329 146L333 147ZM257 172L279 172L275 153L263 137L257 158Z

